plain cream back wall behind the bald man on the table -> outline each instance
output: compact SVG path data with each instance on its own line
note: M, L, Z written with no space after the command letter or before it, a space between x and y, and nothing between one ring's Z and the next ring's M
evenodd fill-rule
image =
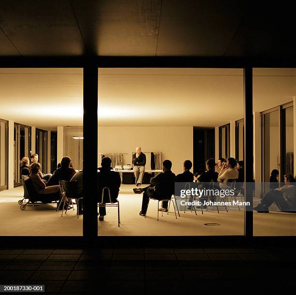
M100 126L98 141L99 153L128 154L124 164L132 164L137 146L143 152L162 152L163 160L172 161L175 174L183 171L184 160L193 162L192 126Z

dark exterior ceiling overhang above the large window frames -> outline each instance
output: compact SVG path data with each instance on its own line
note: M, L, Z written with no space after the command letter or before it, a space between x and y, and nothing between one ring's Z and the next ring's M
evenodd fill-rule
M295 1L2 0L0 56L295 58L295 14Z

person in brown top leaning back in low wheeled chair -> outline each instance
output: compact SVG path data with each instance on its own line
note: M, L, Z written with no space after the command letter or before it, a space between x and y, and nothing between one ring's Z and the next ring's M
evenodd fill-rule
M59 186L46 186L44 180L40 177L41 165L37 163L32 163L30 165L30 179L32 181L32 186L37 194L48 195L57 194L59 196L59 202L62 200L62 194L60 192ZM61 206L62 207L62 206ZM60 208L62 209L62 208Z

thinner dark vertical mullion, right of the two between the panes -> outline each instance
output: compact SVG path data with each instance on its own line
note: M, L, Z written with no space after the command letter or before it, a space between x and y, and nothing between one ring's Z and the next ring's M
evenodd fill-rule
M249 210L244 211L244 235L247 240L253 236L252 190L248 187L253 181L253 74L252 67L244 68L244 127L245 127L245 201L250 202Z

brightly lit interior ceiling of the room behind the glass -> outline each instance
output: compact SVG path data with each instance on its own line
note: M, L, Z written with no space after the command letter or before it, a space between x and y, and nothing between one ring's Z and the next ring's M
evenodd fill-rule
M82 69L0 69L0 118L81 126ZM254 110L293 100L296 69L254 69ZM243 118L241 69L99 69L99 125L215 126Z

